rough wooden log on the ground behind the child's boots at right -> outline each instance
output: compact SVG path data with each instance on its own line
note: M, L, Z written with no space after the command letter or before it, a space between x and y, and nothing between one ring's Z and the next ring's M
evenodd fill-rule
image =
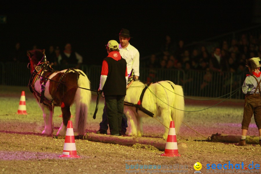
M211 142L239 143L241 135L221 135L219 133L211 135ZM258 144L259 137L247 136L247 144Z

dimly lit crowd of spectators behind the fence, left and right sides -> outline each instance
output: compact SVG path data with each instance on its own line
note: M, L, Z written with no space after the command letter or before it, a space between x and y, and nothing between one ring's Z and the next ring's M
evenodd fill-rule
M37 46L32 46L37 49ZM47 59L58 64L82 64L83 57L74 52L71 44L67 43L64 48L50 45L46 49ZM67 53L67 54L66 54ZM73 53L70 55L70 53ZM69 54L69 55L68 55ZM212 70L218 72L242 72L245 70L245 61L251 57L261 57L261 35L258 38L243 34L240 39L232 39L229 43L224 40L220 46L206 48L205 45L195 48L184 47L184 41L172 41L166 36L165 43L160 48L160 54L153 53L149 59L140 60L140 68L172 68L177 70ZM28 62L26 53L21 50L17 42L10 59L15 62Z

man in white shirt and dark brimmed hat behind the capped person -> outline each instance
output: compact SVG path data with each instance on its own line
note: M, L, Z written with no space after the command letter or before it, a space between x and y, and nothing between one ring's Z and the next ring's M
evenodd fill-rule
M129 43L131 39L129 30L122 28L119 32L119 52L123 59L127 62L127 72L128 75L133 69L136 79L139 78L139 51ZM122 117L122 135L126 135L126 128L128 127L127 118L125 115ZM100 122L100 128L97 133L107 134L108 130L108 119L106 115L106 108L104 106L102 114L102 122Z

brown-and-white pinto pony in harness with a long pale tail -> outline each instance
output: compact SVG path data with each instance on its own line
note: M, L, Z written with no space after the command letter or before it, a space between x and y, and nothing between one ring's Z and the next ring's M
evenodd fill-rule
M49 70L42 70L45 62L49 63L47 60L42 61L42 59L45 58L45 50L30 50L27 51L27 56L30 60L30 71L32 73L32 78L29 82L29 86L31 83L32 88L30 90L37 98L37 102L43 110L45 126L42 134L52 135L53 133L53 113L52 106L50 104L48 105L49 100L53 102L54 106L60 106L62 111L63 122L56 135L65 136L67 123L71 116L70 106L73 103L75 103L74 130L75 132L78 132L79 135L84 135L86 131L91 92L90 90L84 90L77 87L90 89L90 81L88 77L79 69L69 71L67 71L67 69L62 71L50 71L51 68L49 68ZM49 64L47 64L47 66L51 67ZM35 73L48 78L44 90L45 101L42 103L40 103L41 97L39 96L42 91L42 81L39 75L33 77Z

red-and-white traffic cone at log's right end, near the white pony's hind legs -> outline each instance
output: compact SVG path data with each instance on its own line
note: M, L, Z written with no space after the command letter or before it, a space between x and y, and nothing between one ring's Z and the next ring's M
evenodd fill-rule
M176 137L174 121L171 121L171 123L169 125L168 138L167 138L167 142L166 142L165 153L163 153L161 155L167 156L167 157L180 156L180 154L177 150L177 137Z

